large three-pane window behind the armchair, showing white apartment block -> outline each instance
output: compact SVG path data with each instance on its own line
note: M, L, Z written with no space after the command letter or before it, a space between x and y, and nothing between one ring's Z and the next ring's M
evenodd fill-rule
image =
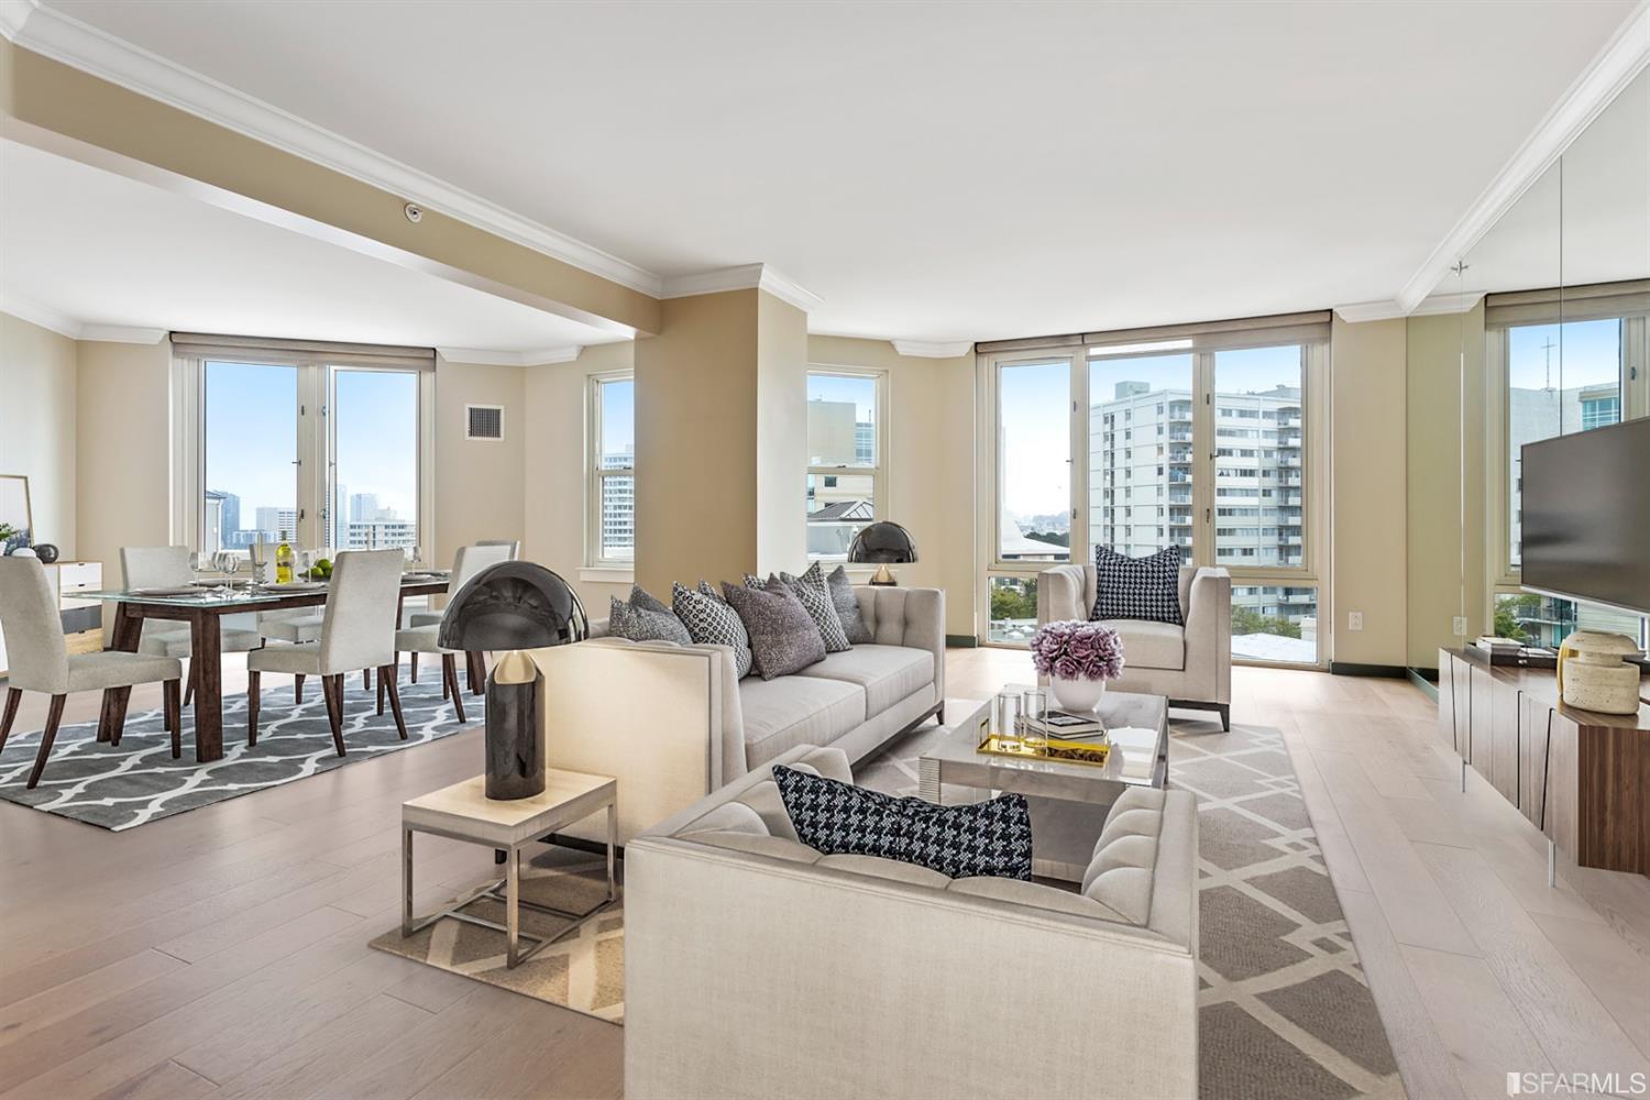
M1313 401L1327 320L1140 336L1091 335L1044 353L987 348L985 640L1030 637L1035 577L1048 562L1092 561L1094 546L1132 557L1178 546L1183 561L1233 574L1233 656L1317 663Z

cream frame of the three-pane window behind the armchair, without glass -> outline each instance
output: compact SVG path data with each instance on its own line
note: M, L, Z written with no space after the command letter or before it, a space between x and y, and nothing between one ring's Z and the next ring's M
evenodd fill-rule
M1295 343L1280 338L1279 345ZM1282 668L1323 668L1330 660L1330 627L1335 622L1330 584L1328 556L1328 429L1330 429L1330 379L1328 360L1330 346L1327 340L1302 340L1300 368L1300 407L1302 407L1302 505L1305 508L1305 524L1302 526L1300 566L1234 566L1214 559L1214 355L1216 351L1193 351L1193 549L1191 561L1200 566L1219 566L1231 574L1233 587L1277 585L1277 587L1315 587L1317 604L1317 646L1318 656L1313 665L1285 661L1256 661L1249 658L1233 658L1236 665L1279 665ZM1183 351L1180 351L1183 353ZM1011 351L980 353L975 356L977 386L977 439L980 440L977 483L985 487L978 495L980 516L978 529L980 572L975 579L975 615L980 627L980 645L1000 648L1023 648L1011 643L990 642L987 638L990 623L990 577L1033 577L1051 566L1064 562L1021 562L998 557L1002 543L998 541L997 523L1002 515L1002 477L1000 477L1000 434L998 434L998 389L1002 369L1005 366L1025 363L1069 363L1069 396L1071 396L1071 562L1087 559L1089 518L1089 355L1082 345L1016 348ZM1079 460L1081 455L1081 460ZM1081 538L1077 538L1081 533Z

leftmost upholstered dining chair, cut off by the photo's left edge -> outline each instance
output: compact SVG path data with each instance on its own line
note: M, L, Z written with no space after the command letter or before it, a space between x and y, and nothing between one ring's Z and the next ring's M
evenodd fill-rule
M10 691L7 691L5 714L0 716L0 750L12 734L23 693L40 691L51 696L35 770L28 773L30 790L46 770L46 757L51 755L51 742L58 737L58 722L63 721L63 704L79 691L104 693L97 740L119 745L132 688L162 684L162 712L172 734L172 759L182 755L178 684L183 679L183 663L175 656L116 650L69 656L58 600L51 594L51 582L46 581L46 567L38 557L0 557L0 630L5 632L12 663L7 673Z

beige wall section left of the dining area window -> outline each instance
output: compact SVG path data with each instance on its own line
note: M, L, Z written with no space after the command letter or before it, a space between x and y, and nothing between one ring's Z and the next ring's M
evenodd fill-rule
M172 541L172 341L79 345L78 556L120 577L122 546Z

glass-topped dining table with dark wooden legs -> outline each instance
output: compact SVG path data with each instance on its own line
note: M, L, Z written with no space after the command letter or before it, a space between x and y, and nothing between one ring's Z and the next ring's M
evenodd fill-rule
M111 650L135 653L145 618L190 625L190 656L195 661L195 759L210 764L223 759L223 618L246 612L315 607L327 602L327 585L320 582L314 587L280 587L218 581L190 587L198 592L109 589L82 592L79 599L114 604ZM409 595L441 595L446 590L446 576L426 572L403 577L396 597L396 622L401 622L401 610Z

